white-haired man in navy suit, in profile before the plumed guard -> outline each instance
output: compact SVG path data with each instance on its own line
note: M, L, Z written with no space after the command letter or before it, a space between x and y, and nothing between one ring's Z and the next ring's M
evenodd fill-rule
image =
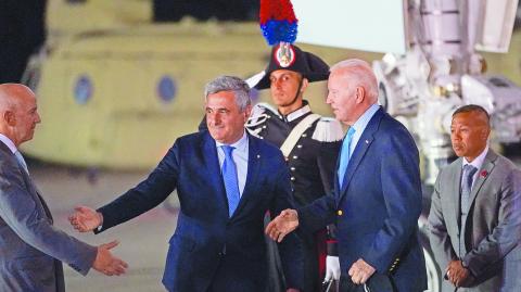
M330 71L327 103L350 126L334 194L282 212L266 232L281 240L298 225L314 231L334 223L341 291L423 291L418 149L407 129L378 105L378 82L367 62L346 60Z

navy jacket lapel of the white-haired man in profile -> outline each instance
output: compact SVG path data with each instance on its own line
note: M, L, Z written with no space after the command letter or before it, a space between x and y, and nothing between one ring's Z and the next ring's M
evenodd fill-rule
M371 117L369 123L367 124L366 129L364 130L364 132L360 136L360 139L356 143L356 148L353 151L353 156L350 158L347 170L345 172L344 183L342 186L342 190L340 191L340 198L336 204L340 204L340 201L342 201L342 198L345 195L347 187L350 186L350 182L353 178L353 175L355 174L356 168L358 168L358 165L364 160L364 156L366 155L367 150L369 149L372 141L374 140L374 134L378 130L382 116L383 116L383 110L379 109L374 113L374 115ZM336 179L336 183L338 183L338 179Z

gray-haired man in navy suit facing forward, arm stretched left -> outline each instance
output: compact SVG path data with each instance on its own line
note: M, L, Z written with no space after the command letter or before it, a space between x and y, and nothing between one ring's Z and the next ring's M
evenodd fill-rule
M80 206L79 231L101 232L163 202L180 202L163 284L168 291L258 291L266 288L264 214L292 207L290 176L276 147L250 136L250 87L221 76L206 85L207 130L180 137L150 176L112 203ZM288 291L297 291L302 251L296 237L280 244Z

